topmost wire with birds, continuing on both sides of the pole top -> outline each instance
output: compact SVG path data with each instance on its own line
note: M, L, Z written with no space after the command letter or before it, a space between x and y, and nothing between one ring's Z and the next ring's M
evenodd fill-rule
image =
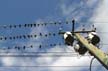
M0 29L15 29L15 28L32 28L32 27L39 27L39 26L47 26L47 25L61 25L64 24L72 24L72 20L68 21L54 21L54 22L44 22L44 23L32 23L32 24L17 24L17 25L0 25ZM81 23L79 21L76 21L76 23ZM83 22L84 23L84 22ZM87 23L87 22L86 22ZM108 23L108 22L92 22L88 21L88 23Z

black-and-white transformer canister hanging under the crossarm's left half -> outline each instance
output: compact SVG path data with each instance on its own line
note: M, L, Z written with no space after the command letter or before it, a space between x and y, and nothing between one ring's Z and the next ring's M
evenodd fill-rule
M66 32L64 34L65 44L72 46L74 42L74 37L72 36L71 32Z

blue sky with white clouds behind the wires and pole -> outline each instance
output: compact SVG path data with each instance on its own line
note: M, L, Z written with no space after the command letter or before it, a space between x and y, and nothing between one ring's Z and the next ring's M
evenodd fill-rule
M39 26L32 28L0 28L0 37L15 36L23 34L40 34L58 33L62 27L64 31L71 31L71 24L64 21L76 20L76 29L81 29L82 25L86 25L87 29L91 29L90 25L94 24L97 32L107 32L107 0L0 0L0 25L24 25L31 23L44 23L63 21L61 25L49 24L47 26ZM71 22L69 22L71 23ZM1 27L0 26L0 27ZM104 27L104 28L103 28ZM108 33L98 33L101 42L107 43ZM7 52L4 54L23 54L22 52L64 52L51 53L51 55L60 54L60 57L43 57L40 53L39 57L1 57L0 71L89 71L90 56L72 56L75 53L73 47L64 45L62 35L57 36L38 36L31 39L18 40L0 40L0 48L13 48L14 46L27 46L26 50L0 50ZM57 46L49 46L50 44L63 44ZM42 48L38 48L39 45ZM33 45L34 48L30 48ZM101 49L107 53L107 45L101 45ZM71 52L66 54L66 52ZM2 54L2 53L1 53ZM64 57L62 55L71 55ZM75 53L76 54L76 53ZM2 67L7 66L7 67ZM9 66L37 66L37 67L9 67ZM44 67L39 67L44 66ZM51 66L51 67L50 67ZM58 67L57 67L58 66ZM86 66L86 67L85 67ZM92 71L107 71L96 59L93 62Z

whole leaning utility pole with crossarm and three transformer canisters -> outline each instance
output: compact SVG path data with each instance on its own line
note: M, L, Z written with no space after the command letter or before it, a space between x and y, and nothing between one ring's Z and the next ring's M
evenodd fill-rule
M72 32L59 32L59 34L64 35L65 44L73 46L73 42L76 39L79 44L76 48L74 48L76 52L78 52L80 55L84 55L87 51L89 51L108 70L108 55L96 47L96 44L99 43L100 38L95 34L90 34L90 42L87 38L80 35L80 33L95 33L96 28L92 31L75 31L74 25L75 20L72 20Z

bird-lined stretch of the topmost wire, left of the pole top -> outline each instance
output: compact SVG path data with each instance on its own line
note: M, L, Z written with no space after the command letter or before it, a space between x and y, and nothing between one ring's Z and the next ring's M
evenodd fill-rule
M40 26L47 26L47 25L61 25L62 23L66 23L66 24L69 24L67 22L70 22L70 21L64 21L64 22L61 22L61 21L55 21L55 22L49 22L49 23L33 23L33 24L18 24L18 25L1 25L0 26L0 29L4 28L4 29L15 29L15 28L32 28L32 27L40 27Z

